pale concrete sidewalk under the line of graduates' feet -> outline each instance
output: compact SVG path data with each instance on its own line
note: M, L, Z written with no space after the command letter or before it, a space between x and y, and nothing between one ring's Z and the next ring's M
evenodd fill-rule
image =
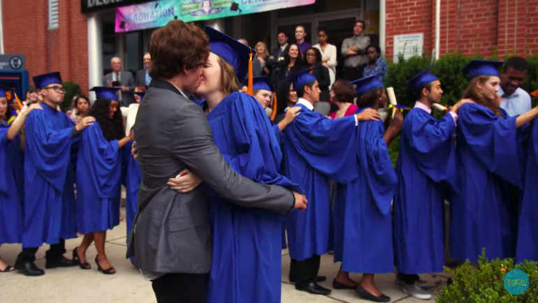
M124 209L122 209L123 212ZM82 241L71 239L66 242L68 252L66 256L71 258L73 249ZM90 270L82 270L79 267L45 269L46 274L39 277L27 277L22 274L0 273L0 302L1 303L155 303L155 297L151 283L140 278L138 269L134 268L129 260L125 259L126 253L126 224L125 220L114 230L108 231L106 251L112 266L117 274L107 276L97 272L95 264L96 251L91 246L87 251L88 263L92 265ZM48 245L39 249L36 265L45 268L45 251ZM19 244L1 246L1 257L6 263L13 265L17 254L20 253ZM333 263L333 256L321 258L320 275L327 276L327 281L322 286L331 288L334 276L340 265ZM361 300L353 290L333 290L329 296L310 295L295 290L288 281L289 256L286 250L282 251L282 303L336 303L336 302L370 302ZM355 281L360 281L361 275L351 275ZM448 274L423 275L423 279L432 283L431 291L441 290L446 283ZM375 277L375 283L379 289L392 298L391 302L424 302L416 300L400 291L394 284L394 274L383 274ZM430 300L434 302L434 300ZM256 303L256 302L252 302Z

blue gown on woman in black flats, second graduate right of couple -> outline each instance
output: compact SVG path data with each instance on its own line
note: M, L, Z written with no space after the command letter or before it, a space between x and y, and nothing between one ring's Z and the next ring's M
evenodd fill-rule
M356 113L362 112L359 108ZM393 272L391 200L396 174L383 138L383 121L361 122L350 143L358 178L337 184L334 204L335 262L345 272Z

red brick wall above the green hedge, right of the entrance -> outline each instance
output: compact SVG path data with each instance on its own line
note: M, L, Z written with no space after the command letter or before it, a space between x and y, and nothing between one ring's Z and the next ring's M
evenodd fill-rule
M424 33L424 48L435 48L435 0L386 1L386 57L393 37ZM479 52L484 57L538 52L538 0L442 0L440 55Z

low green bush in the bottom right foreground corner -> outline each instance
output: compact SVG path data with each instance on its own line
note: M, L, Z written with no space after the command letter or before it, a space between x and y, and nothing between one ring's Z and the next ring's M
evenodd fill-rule
M529 288L521 295L511 295L504 289L504 275L511 269L521 269L529 276ZM514 260L486 258L486 249L479 258L478 268L469 260L460 267L445 269L453 277L451 286L447 286L437 295L437 303L537 303L538 269L535 261L525 260L514 264Z

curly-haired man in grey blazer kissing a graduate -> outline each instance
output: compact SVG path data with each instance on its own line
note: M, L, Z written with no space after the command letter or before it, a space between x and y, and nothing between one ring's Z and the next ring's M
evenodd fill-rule
M208 39L192 24L172 20L152 35L152 82L134 133L143 181L127 257L152 281L158 303L203 303L211 267L208 198L203 186L180 193L168 179L188 169L213 191L242 207L289 214L304 195L238 175L213 143L205 114L183 91L196 91Z

